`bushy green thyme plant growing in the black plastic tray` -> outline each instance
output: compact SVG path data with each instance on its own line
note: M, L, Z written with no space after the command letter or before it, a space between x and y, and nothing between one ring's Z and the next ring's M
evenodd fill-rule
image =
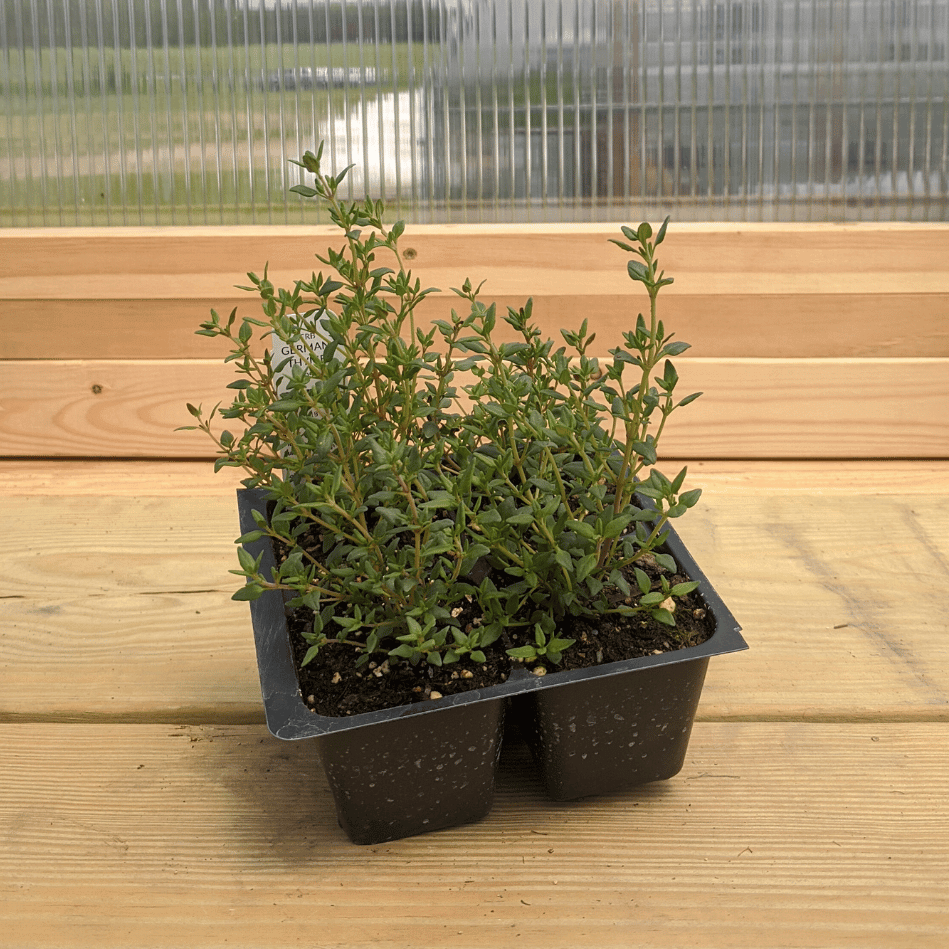
M379 201L341 200L346 172L324 173L321 153L297 162L312 187L291 190L341 232L317 255L327 274L290 288L249 274L262 318L212 311L198 330L229 344L238 378L229 406L189 404L187 427L214 441L216 469L267 491L269 516L238 543L266 535L286 554L265 575L238 547L234 598L281 590L308 607L305 662L331 646L357 665L484 662L498 644L556 664L573 644L568 618L609 614L646 613L674 635L676 600L697 584L656 578L676 569L660 548L700 491L683 490L684 468L669 479L655 465L670 415L700 393L677 399L670 359L688 344L657 316L668 220L613 241L633 255L649 312L603 360L586 321L557 346L531 300L499 317L470 281L450 319L423 325L433 290L405 266L404 224L387 227ZM515 342L496 339L499 318Z

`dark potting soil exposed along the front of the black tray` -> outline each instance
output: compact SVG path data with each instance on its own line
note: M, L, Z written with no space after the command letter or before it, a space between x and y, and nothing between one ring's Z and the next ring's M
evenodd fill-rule
M646 566L645 569L651 574L658 572L655 567ZM636 579L632 570L629 574L630 587L635 590ZM675 584L689 578L676 575L668 579ZM623 602L623 595L618 590L615 596L617 603ZM466 619L471 621L476 617L459 617L463 625ZM714 622L698 592L677 599L675 619L673 628L640 614L632 617L611 615L596 621L570 618L561 625L557 635L576 642L564 651L561 663L553 665L529 660L523 666L531 671L543 669L545 673L583 669L698 645L714 632ZM520 645L515 641L505 642L502 637L488 651L487 662L473 662L470 657L465 657L443 666L426 662L412 666L406 660L388 659L385 653L379 653L359 669L353 668L351 646L326 646L310 663L301 667L309 648L304 633L312 629L312 614L301 608L293 611L288 620L304 701L320 715L333 717L427 702L440 696L497 685L507 680L517 664L506 650Z

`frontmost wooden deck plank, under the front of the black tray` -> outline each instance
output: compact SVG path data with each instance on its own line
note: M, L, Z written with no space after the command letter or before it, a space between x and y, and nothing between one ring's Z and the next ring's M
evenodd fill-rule
M0 736L10 949L942 949L949 931L946 725L700 723L676 778L569 804L512 749L484 821L369 848L306 743L261 727Z

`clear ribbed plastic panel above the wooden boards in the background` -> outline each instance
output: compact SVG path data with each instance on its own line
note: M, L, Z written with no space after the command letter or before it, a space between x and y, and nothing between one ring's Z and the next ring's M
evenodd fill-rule
M2 0L0 224L949 219L949 0Z

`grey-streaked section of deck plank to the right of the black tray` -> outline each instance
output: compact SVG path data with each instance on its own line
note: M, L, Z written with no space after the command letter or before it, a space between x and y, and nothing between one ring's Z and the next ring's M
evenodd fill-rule
M751 647L704 716L949 721L944 495L707 491L679 530Z

